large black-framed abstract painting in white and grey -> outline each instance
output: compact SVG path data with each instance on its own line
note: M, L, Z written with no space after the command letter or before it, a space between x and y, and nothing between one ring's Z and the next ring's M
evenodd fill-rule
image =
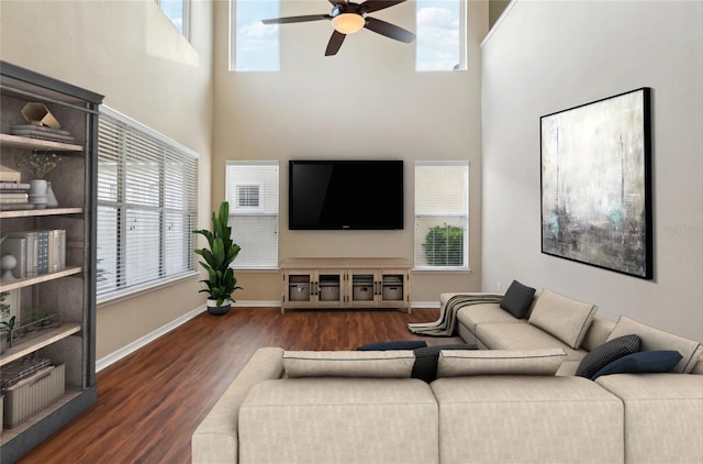
M540 118L543 253L654 277L650 92Z

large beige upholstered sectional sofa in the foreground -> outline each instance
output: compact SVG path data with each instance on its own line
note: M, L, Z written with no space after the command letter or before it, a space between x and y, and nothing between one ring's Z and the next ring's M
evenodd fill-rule
M482 350L442 351L431 383L410 378L409 350L260 349L193 433L192 462L703 462L701 344L565 299L544 290L524 318L498 302L460 308L456 330ZM671 373L574 375L629 334L681 361Z

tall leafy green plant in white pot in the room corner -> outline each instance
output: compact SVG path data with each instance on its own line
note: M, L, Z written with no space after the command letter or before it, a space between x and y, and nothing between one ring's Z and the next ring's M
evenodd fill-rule
M230 310L234 299L232 294L242 287L237 286L237 279L230 265L239 254L241 246L232 241L232 228L230 221L230 203L220 203L220 213L212 213L212 231L200 229L193 233L203 235L208 240L209 248L196 248L203 261L200 265L208 272L208 278L200 280L207 288L201 292L209 295L208 312L220 316Z

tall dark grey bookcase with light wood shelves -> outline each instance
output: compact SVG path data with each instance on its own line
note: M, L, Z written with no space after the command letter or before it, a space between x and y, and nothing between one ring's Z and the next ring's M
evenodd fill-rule
M18 155L22 151L62 154L60 163L46 176L58 197L59 207L34 209L32 205L10 203L0 210L0 235L5 237L0 247L3 253L15 256L14 276L26 275L34 269L44 273L0 280L0 320L9 322L14 318L12 334L16 332L19 336L9 339L11 335L7 331L0 332L8 338L2 341L0 366L4 373L13 373L14 363L22 367L27 364L32 368L48 360L54 366L64 366L65 376L60 382L66 391L57 401L42 404L40 411L27 410L27 416L3 420L8 427L15 423L16 427L4 430L0 435L0 464L19 461L97 400L94 175L102 99L101 95L71 84L0 62L0 152L3 167L0 180L30 183L26 177L21 179L19 176ZM27 124L22 110L34 102L41 102L47 111L51 110L62 131L72 137L71 142L34 139L32 129L26 129L31 136L9 133L23 130L18 128ZM36 133L41 131L37 129ZM25 188L19 185L3 187L5 192L18 189ZM7 196L5 199L11 198ZM51 269L60 270L46 272ZM56 314L63 324L22 331L22 328L33 328L31 321L44 311ZM9 341L13 342L12 346L5 345ZM27 395L13 390L12 401L24 401ZM10 401L8 396L4 396L4 406Z

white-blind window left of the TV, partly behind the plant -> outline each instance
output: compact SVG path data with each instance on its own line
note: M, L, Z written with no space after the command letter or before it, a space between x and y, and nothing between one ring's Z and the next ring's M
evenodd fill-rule
M227 162L226 199L236 269L278 268L278 162Z

